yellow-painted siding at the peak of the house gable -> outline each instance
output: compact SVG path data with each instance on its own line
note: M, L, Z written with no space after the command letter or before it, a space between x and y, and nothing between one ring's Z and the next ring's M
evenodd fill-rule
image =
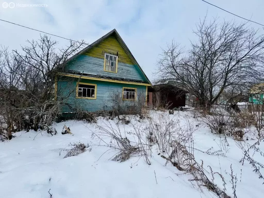
M105 58L105 53L117 55L118 52L118 62L126 63L133 65L131 59L125 53L124 49L121 47L114 35L109 36L103 40L98 45L92 47L85 55L96 57L96 58Z

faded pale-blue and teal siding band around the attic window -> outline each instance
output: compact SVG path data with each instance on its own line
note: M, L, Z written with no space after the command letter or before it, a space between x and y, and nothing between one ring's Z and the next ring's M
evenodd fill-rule
M140 80L148 82L137 65L130 65L127 63L119 62L119 57L117 64L117 73L105 72L103 70L104 59L95 58L87 55L79 55L75 60L72 60L70 62L70 64L67 66L67 69L74 70L80 73L83 72L98 76Z

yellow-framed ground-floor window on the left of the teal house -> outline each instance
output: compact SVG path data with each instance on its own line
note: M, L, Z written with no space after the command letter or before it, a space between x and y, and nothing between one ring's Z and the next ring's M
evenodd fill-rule
M76 98L96 99L96 90L96 84L77 82Z

